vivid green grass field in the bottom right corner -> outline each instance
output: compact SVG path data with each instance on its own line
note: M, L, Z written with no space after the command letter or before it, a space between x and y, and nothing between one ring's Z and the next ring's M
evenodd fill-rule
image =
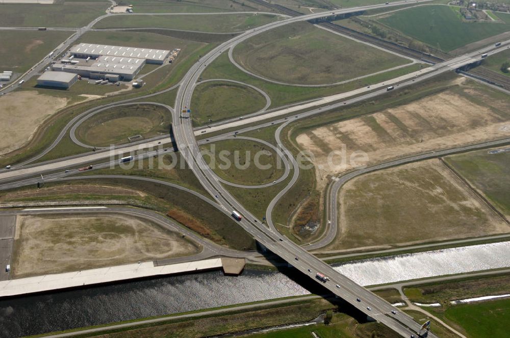
M510 299L452 306L445 317L461 325L470 338L506 337Z

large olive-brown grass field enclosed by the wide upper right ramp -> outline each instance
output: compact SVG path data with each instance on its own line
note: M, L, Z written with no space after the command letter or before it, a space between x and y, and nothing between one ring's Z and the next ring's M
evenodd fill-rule
M305 22L278 27L240 43L234 49L234 59L254 74L304 85L335 83L410 63Z

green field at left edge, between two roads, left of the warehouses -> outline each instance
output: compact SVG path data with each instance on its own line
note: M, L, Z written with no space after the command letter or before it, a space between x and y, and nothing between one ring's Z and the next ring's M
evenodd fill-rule
M2 15L0 5L0 15ZM0 71L24 73L67 39L72 32L2 31L0 34ZM13 50L16 46L16 50Z

